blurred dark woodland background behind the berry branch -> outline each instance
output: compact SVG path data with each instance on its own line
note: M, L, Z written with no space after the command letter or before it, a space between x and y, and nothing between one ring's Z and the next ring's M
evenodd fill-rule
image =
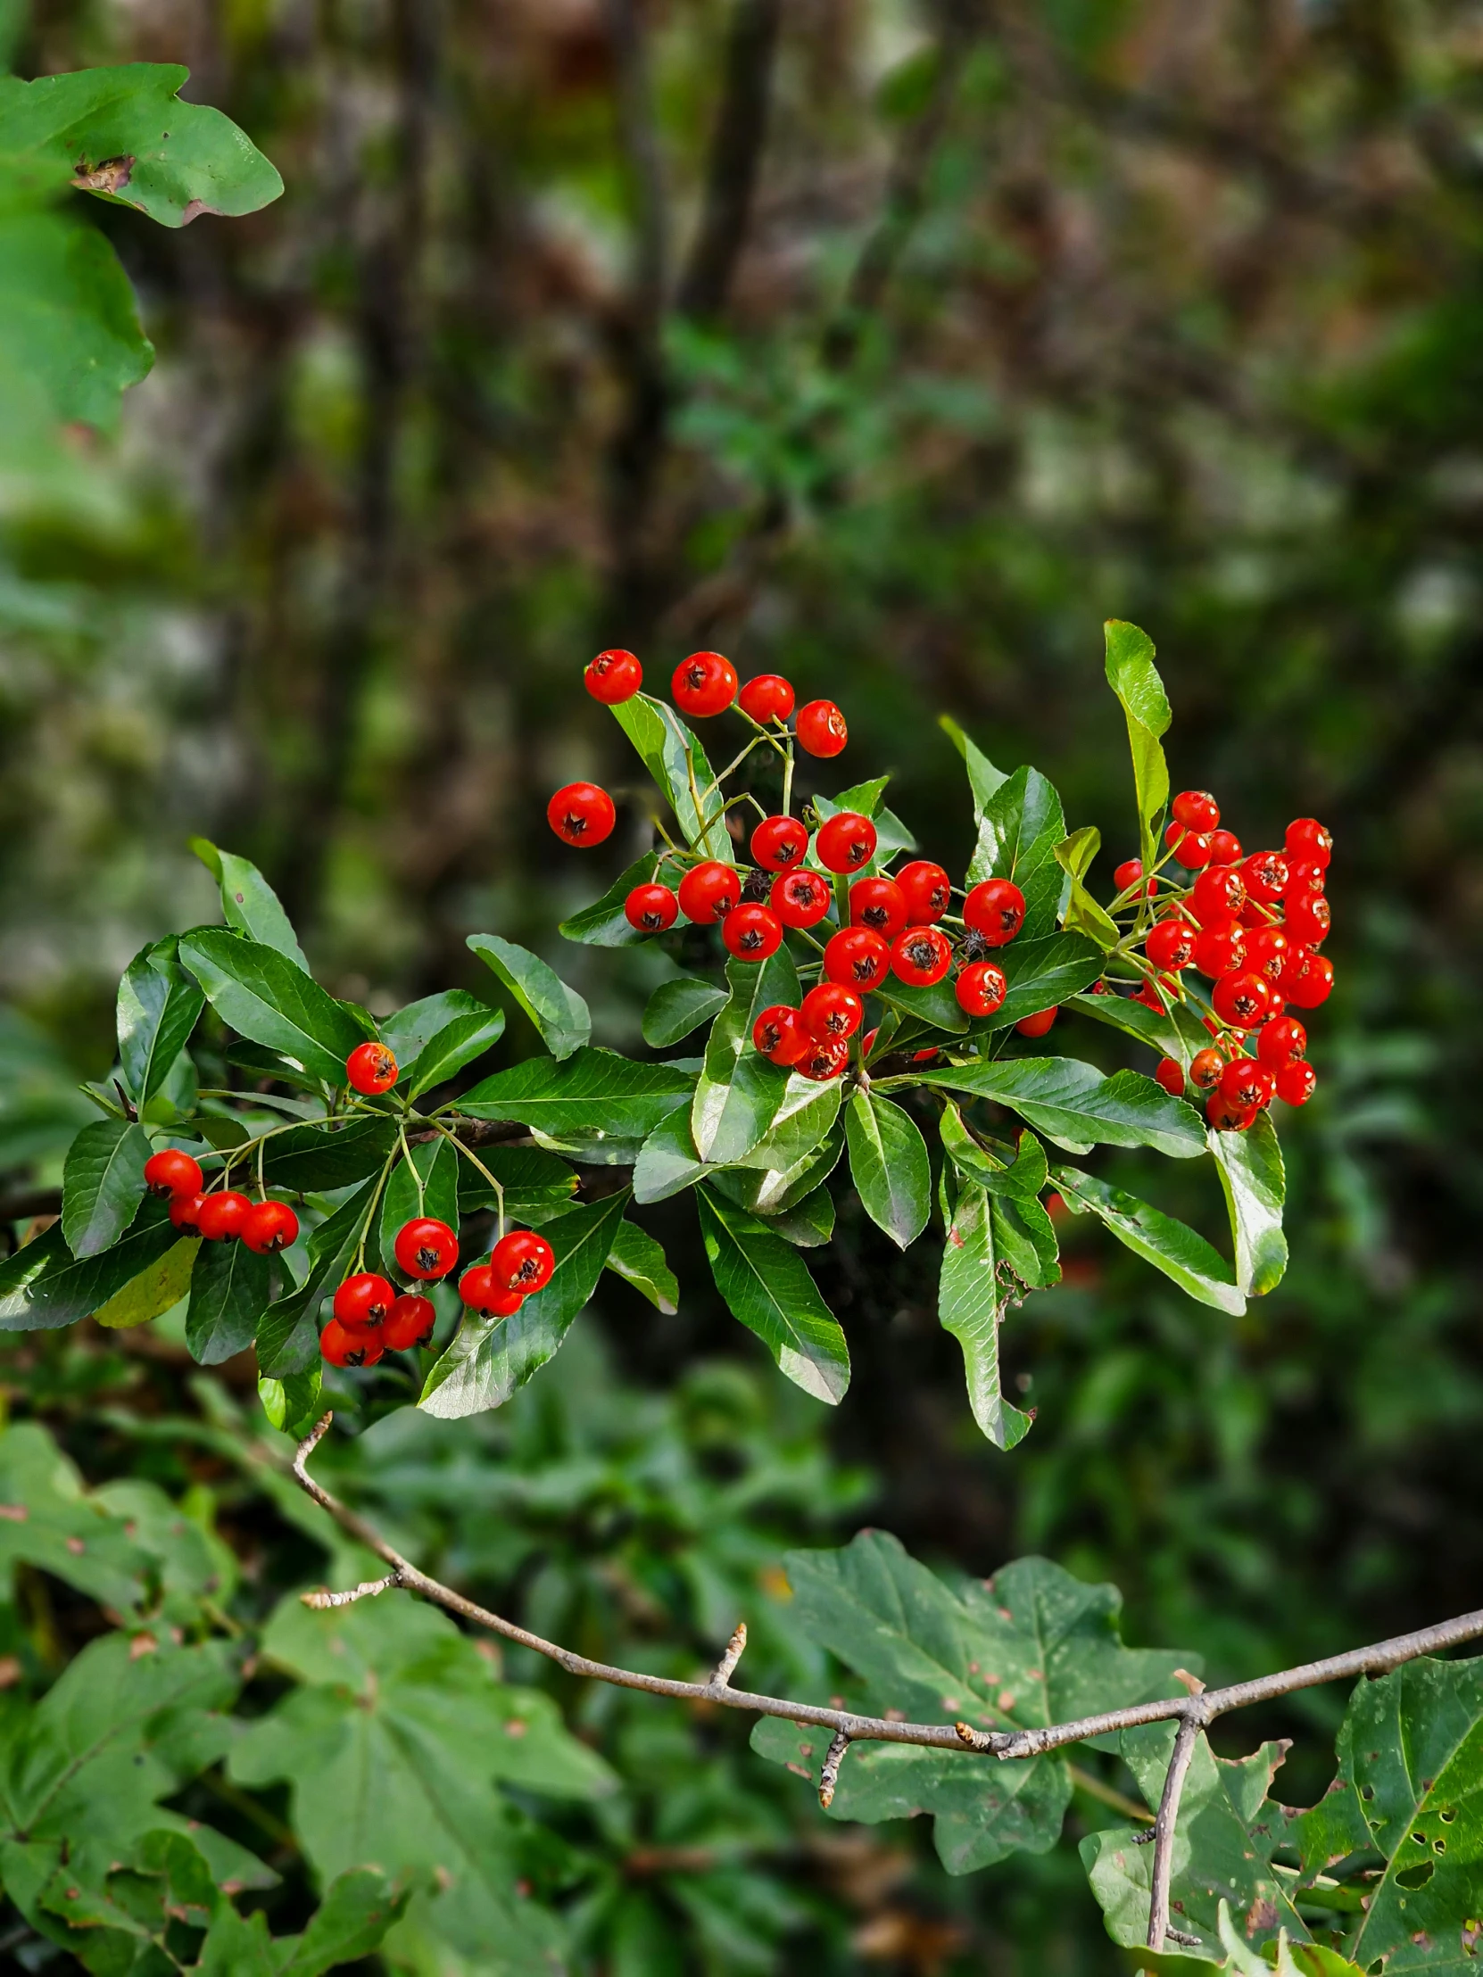
M846 1206L821 1277L856 1380L825 1419L666 1204L676 1317L605 1293L508 1421L461 1425L457 1459L413 1423L362 1485L401 1463L463 1584L654 1667L742 1601L775 1611L787 1669L783 1548L866 1518L939 1564L1111 1578L1133 1639L1218 1676L1475 1605L1483 6L4 20L24 75L188 63L287 194L182 233L89 206L158 362L97 447L99 510L0 522L0 1192L55 1178L121 967L214 917L192 832L267 870L342 994L477 987L465 935L498 929L633 1042L649 963L554 933L633 852L577 860L542 820L573 775L633 777L579 690L593 650L662 680L718 646L838 698L842 781L890 767L951 864L947 712L1123 856L1101 621L1131 617L1177 787L1214 789L1248 846L1301 813L1339 844L1285 1285L1232 1323L1078 1224L1066 1285L1006 1327L1040 1418L1004 1457L931 1265ZM1214 1212L1188 1174L1147 1180ZM129 1429L218 1404L176 1360L10 1340L0 1380L89 1473L148 1447L229 1510L204 1457ZM271 1580L271 1514L237 1516ZM916 1829L823 1821L738 1726L564 1700L629 1779L567 1833L597 1862L571 1896L591 1973L1123 1967L1070 1847L953 1884ZM1283 1789L1309 1803L1341 1700L1228 1744L1295 1736ZM1072 1833L1099 1817L1078 1795Z

